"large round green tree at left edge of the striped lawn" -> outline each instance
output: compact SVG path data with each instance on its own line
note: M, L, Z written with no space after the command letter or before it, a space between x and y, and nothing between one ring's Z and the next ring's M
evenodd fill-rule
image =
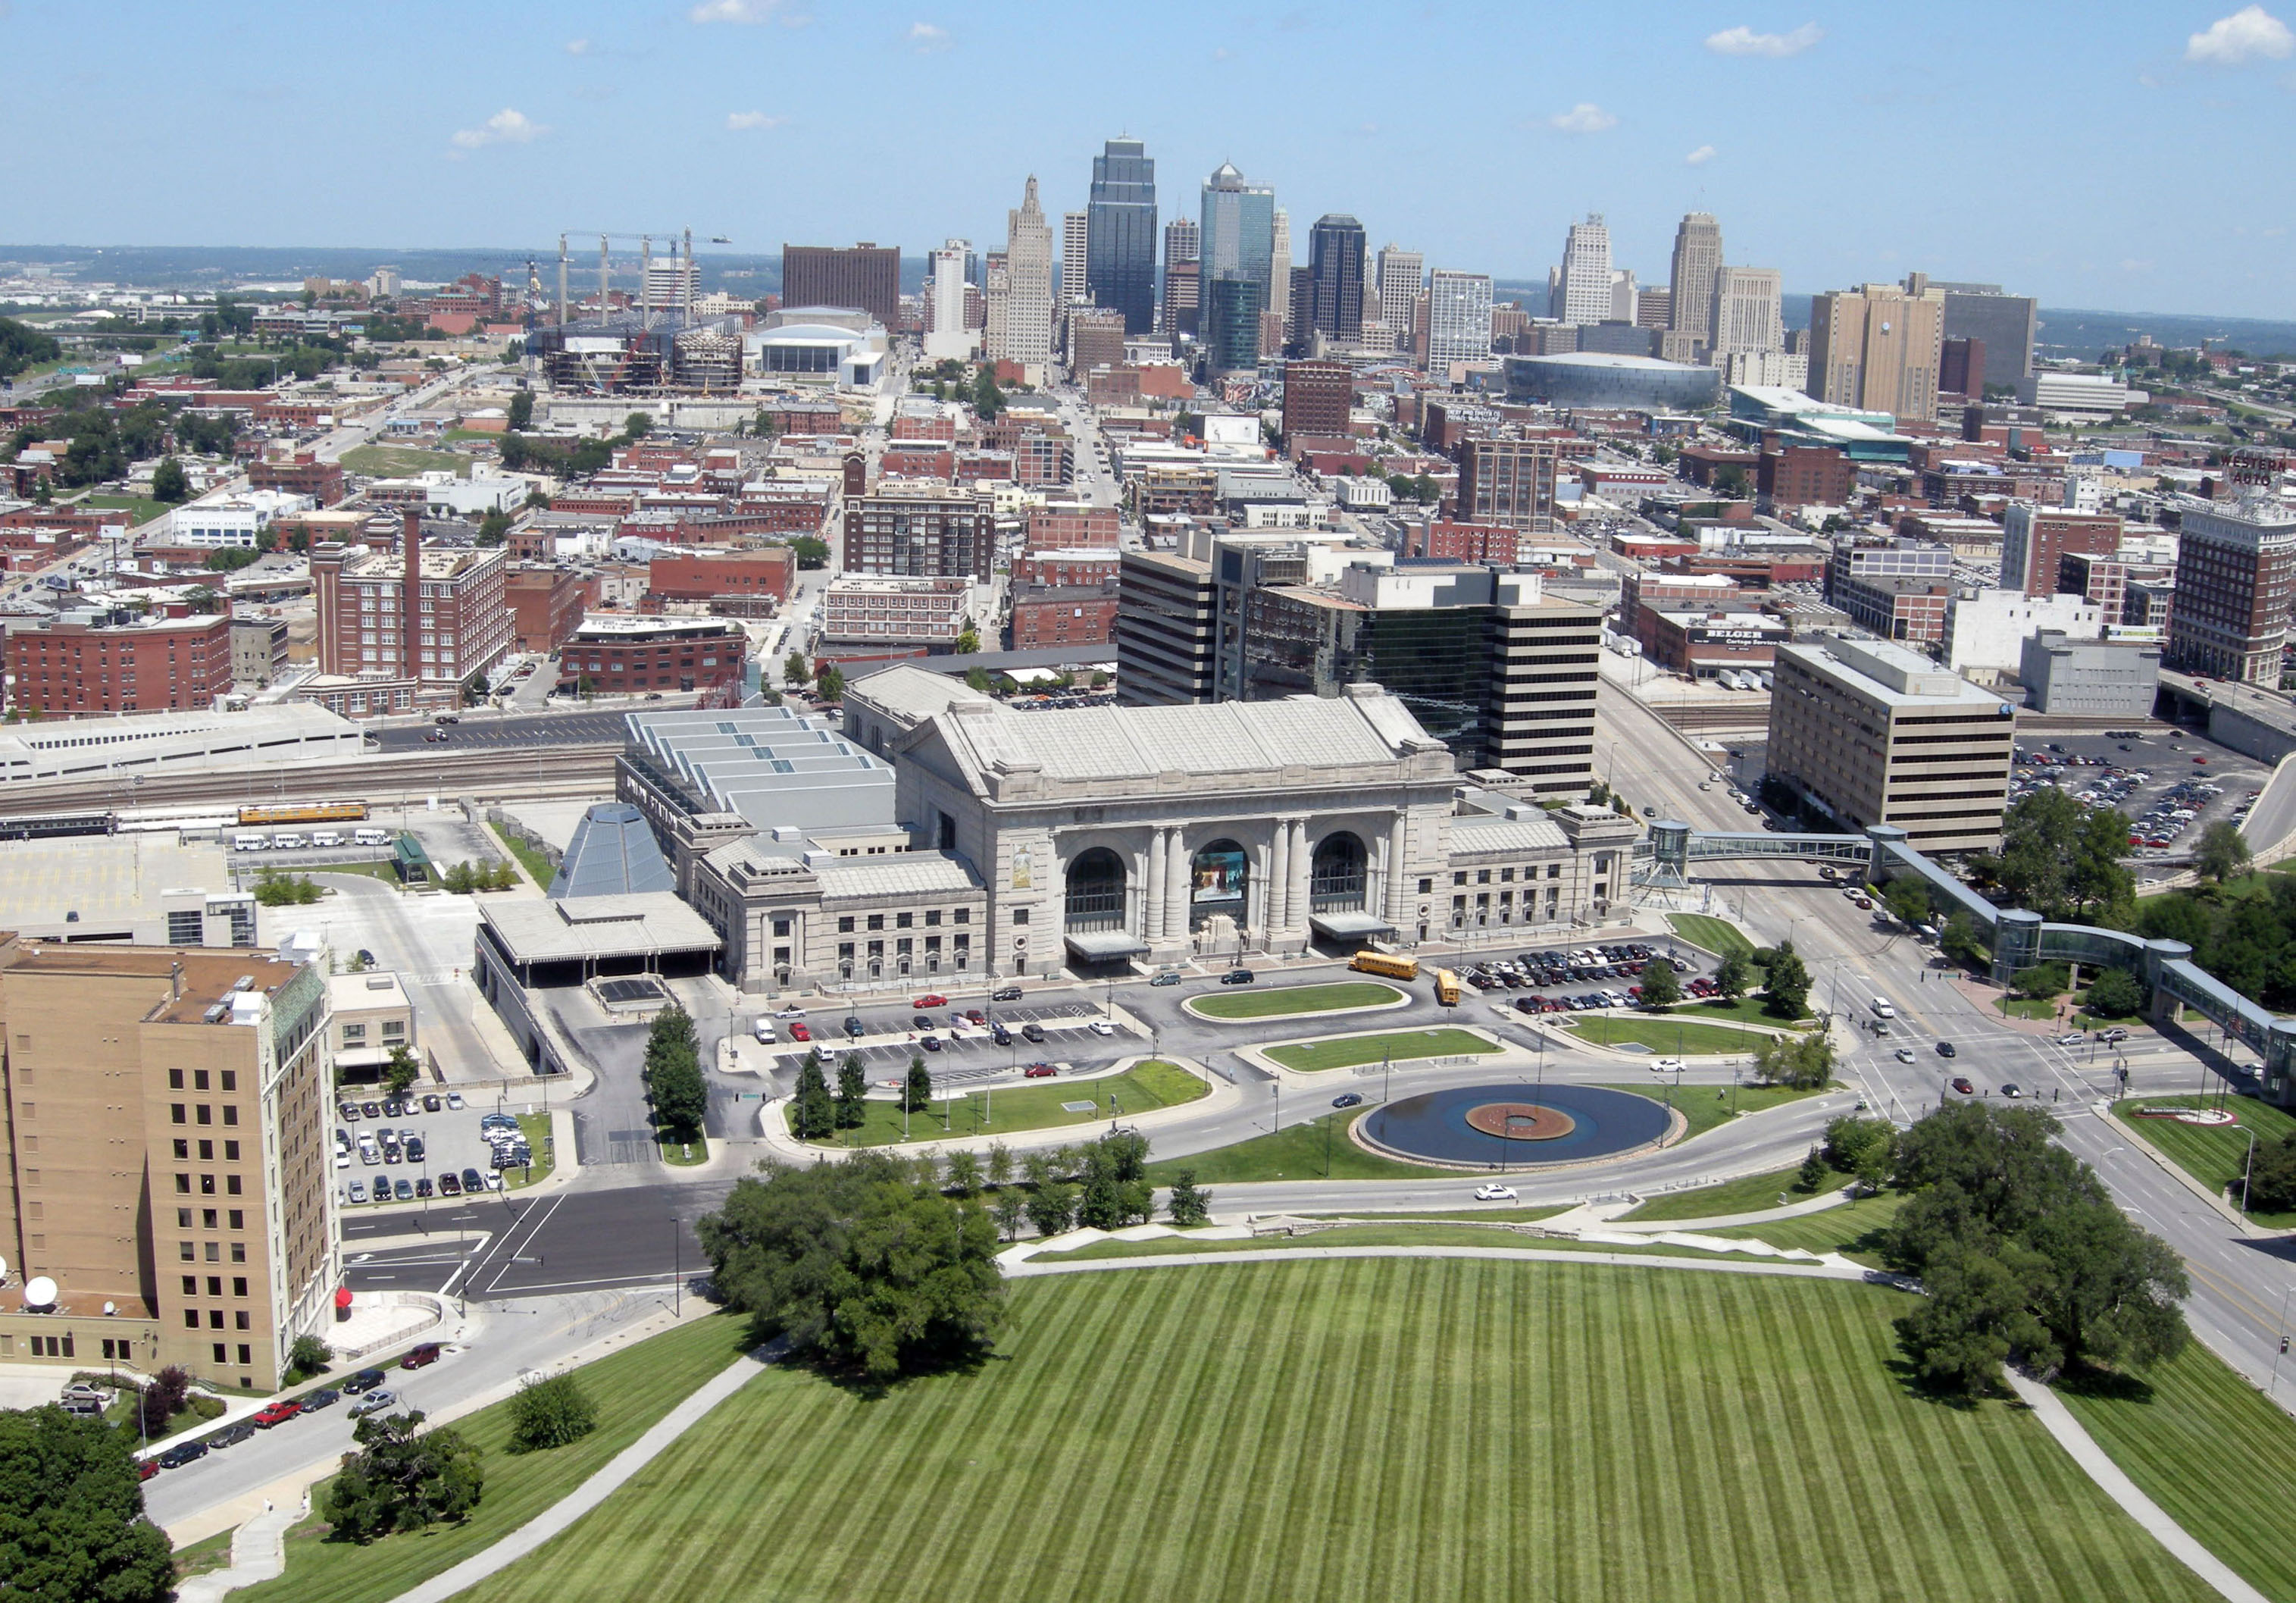
M980 1353L1003 1325L987 1213L886 1153L744 1176L700 1238L760 1339L872 1383Z

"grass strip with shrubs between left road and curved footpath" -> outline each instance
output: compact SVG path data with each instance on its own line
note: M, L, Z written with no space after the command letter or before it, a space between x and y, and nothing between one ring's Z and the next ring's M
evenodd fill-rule
M487 1495L464 1525L436 1525L422 1534L386 1536L370 1548L326 1541L315 1513L287 1534L287 1573L259 1587L234 1592L234 1603L383 1603L420 1580L459 1564L546 1507L565 1497L618 1451L629 1447L661 1415L719 1373L748 1346L748 1321L700 1318L650 1341L622 1348L581 1369L583 1389L597 1403L597 1428L546 1454L512 1454L510 1405L496 1403L455 1422L466 1442L484 1454ZM317 1502L312 1488L312 1502ZM579 1587L576 1587L579 1592Z

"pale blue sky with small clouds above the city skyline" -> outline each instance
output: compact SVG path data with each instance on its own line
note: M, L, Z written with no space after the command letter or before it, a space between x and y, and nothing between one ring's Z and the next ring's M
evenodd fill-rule
M1031 172L1058 230L1130 133L1162 218L1233 161L1300 260L1348 211L1373 250L1543 280L1600 211L1655 285L1701 209L1791 292L1917 269L2296 317L2273 7L0 0L0 241L999 250Z

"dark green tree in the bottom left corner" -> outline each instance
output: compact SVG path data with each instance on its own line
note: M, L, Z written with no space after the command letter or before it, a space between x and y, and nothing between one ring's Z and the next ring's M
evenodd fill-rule
M11 1603L174 1596L174 1557L145 1518L133 1447L133 1431L62 1408L0 1412L0 1589Z

